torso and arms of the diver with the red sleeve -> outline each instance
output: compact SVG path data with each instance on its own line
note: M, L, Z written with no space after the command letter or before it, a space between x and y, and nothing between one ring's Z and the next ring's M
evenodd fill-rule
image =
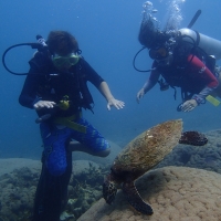
M162 82L162 78L159 82L160 75L166 83ZM159 56L155 59L148 81L137 93L138 103L157 82L164 84L162 86L181 87L183 104L181 104L180 110L182 112L190 112L198 105L204 104L206 97L219 85L219 81L212 71L197 55L191 53L181 62L179 56L172 54L164 59L159 59ZM164 91L164 87L161 90Z

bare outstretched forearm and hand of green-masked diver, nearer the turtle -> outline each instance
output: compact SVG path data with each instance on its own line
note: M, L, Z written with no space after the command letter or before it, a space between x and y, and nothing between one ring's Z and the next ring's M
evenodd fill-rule
M125 106L124 102L114 98L106 82L102 82L98 90L107 101L108 110L110 110L110 106L115 106L117 109L122 109Z

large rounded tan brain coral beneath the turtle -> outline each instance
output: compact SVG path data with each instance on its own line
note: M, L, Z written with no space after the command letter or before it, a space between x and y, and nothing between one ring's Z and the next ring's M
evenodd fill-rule
M96 202L77 221L220 221L221 175L188 167L164 167L136 181L151 217L133 210L122 191L112 206Z

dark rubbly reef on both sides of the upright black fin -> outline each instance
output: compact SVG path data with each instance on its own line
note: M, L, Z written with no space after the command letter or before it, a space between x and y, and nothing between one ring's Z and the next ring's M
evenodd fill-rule
M0 221L31 220L34 193L41 171L41 167L36 168L22 167L0 176ZM69 186L69 202L61 220L75 221L102 198L102 183L107 168L92 161L76 160L73 161L73 171Z

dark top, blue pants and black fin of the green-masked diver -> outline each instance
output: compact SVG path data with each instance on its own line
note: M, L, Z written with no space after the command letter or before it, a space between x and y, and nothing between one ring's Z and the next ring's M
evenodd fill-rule
M81 108L92 108L93 98L86 86L91 82L97 88L104 80L80 59L69 73L55 70L52 62L41 53L30 61L30 73L27 76L19 102L33 108L38 101L51 101L59 104L69 97L69 109L42 108L39 116L51 114L51 118L40 125L44 144L42 171L36 188L32 221L59 221L60 213L67 199L67 186L72 173L72 152L66 147L71 138L86 145L92 151L109 148L105 138L78 113ZM86 127L86 133L72 128L57 128L53 119L76 115L74 123Z

